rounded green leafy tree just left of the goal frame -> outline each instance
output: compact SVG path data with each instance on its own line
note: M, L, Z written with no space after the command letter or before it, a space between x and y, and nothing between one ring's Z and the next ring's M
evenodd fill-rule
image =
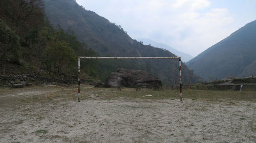
M74 71L77 56L74 50L64 41L53 41L44 52L44 63L47 71L59 75L61 73L76 73Z

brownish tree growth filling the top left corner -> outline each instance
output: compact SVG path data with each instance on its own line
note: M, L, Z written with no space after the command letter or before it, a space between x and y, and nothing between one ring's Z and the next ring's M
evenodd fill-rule
M42 0L1 0L0 18L18 36L44 24L44 3Z

